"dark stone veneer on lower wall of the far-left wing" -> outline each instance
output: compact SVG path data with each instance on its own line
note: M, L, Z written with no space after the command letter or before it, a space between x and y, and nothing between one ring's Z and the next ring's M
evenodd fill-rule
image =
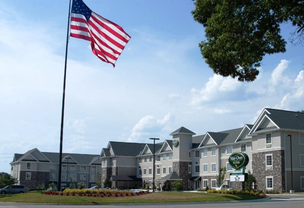
M26 180L26 172L31 173L30 180ZM49 180L50 172L20 171L20 185L24 185L26 189L36 189L38 184L44 184L47 187Z

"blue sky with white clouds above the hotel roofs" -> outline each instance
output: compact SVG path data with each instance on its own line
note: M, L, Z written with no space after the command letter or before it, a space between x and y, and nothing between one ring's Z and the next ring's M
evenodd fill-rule
M85 3L131 40L116 62L70 38L64 152L99 154L108 141L161 141L184 126L197 135L253 124L264 107L303 110L303 47L265 56L253 83L214 75L198 43L192 1ZM59 152L68 1L0 2L0 172L12 154ZM282 25L288 40L292 26Z

